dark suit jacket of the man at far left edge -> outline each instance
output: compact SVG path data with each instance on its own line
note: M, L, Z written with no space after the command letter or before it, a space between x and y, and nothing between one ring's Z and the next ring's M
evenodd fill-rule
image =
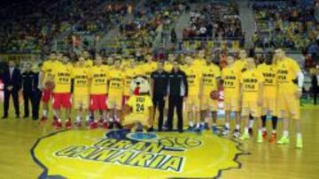
M21 73L19 69L14 67L11 76L9 68L6 68L3 74L3 82L4 89L6 89L7 86L13 86L13 90L19 90L21 88Z

